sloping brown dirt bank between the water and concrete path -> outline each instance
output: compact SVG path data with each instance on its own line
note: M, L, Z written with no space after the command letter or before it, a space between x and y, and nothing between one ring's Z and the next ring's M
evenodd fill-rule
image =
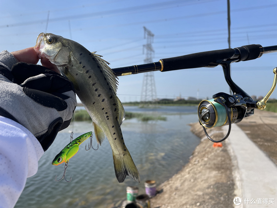
M191 124L191 131L199 138L205 136L199 123ZM221 128L214 132L214 139L224 137ZM151 199L151 208L233 207L232 161L226 142L223 141L222 147L218 148L212 145L209 139L201 140L189 163L157 187L161 193Z

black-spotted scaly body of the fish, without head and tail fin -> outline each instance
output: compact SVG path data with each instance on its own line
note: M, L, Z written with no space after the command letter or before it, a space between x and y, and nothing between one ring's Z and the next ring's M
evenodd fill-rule
M127 148L117 121L116 94L93 54L88 50L86 53L84 53L84 50L78 50L72 56L74 59L71 59L71 63L67 67L80 88L80 91L76 91L76 94L93 122L104 131L111 148L117 150L114 153L123 156L124 150L127 151Z

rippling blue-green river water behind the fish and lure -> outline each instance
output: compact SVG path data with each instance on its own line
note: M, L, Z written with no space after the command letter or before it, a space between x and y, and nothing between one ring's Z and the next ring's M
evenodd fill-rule
M161 106L157 109L124 106L125 111L145 112L166 117L166 121L141 122L136 118L125 120L122 125L124 141L140 173L140 183L129 176L119 183L114 174L112 151L107 139L97 151L85 151L85 143L70 159L66 179L59 179L64 163L51 164L55 156L70 142L72 125L58 133L50 148L39 160L37 174L27 179L26 186L15 207L111 207L126 198L126 187L139 187L144 194L144 182L155 180L157 185L172 177L188 162L200 140L188 126L198 121L197 106ZM75 122L73 137L93 131L91 122ZM94 133L93 133L94 134ZM94 139L94 148L97 143Z

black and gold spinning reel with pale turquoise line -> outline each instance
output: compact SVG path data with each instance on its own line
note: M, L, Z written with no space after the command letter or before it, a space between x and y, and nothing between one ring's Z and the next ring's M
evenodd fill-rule
M229 64L223 65L225 80L229 84L233 95L224 92L212 96L211 100L202 100L198 106L199 122L203 127L206 136L213 142L225 140L231 131L231 124L238 123L247 116L254 115L254 109L263 110L266 107L266 101L273 93L276 86L276 68L273 69L274 81L270 91L260 101L254 101L241 88L239 88L230 77ZM206 131L206 128L229 125L227 135L218 141L213 140Z

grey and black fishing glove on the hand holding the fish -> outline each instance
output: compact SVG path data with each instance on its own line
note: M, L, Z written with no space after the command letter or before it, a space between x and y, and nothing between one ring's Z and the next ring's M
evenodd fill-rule
M46 151L70 124L77 104L73 84L41 65L5 64L0 64L0 115L26 127Z

